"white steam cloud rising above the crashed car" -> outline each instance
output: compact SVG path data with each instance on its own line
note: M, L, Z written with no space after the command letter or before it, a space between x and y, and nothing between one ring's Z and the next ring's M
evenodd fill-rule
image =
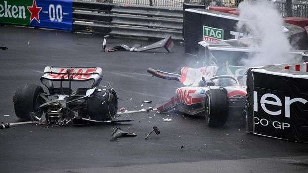
M245 42L255 52L241 62L245 66L260 66L292 62L291 45L283 33L283 19L271 2L267 0L242 1L237 29L249 33L245 37L258 37L258 41Z

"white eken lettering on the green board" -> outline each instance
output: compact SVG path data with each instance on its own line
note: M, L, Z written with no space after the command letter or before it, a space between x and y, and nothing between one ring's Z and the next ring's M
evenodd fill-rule
M24 6L9 5L7 1L0 4L0 17L26 18L26 11Z

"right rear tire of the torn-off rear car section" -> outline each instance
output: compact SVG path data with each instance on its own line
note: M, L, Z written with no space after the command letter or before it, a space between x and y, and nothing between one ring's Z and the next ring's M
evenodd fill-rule
M117 94L111 87L94 91L87 101L87 113L93 120L105 121L116 117L118 111Z

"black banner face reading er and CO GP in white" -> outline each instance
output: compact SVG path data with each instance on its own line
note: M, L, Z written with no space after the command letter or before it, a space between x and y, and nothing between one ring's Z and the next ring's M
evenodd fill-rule
M307 75L252 71L254 133L308 142Z

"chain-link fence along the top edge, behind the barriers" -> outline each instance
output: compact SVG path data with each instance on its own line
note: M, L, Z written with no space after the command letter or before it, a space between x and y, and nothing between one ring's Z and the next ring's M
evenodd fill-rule
M82 0L91 2L116 3L122 5L154 6L158 8L182 9L183 3L196 3L206 6L237 7L243 0ZM271 0L283 17L308 17L308 0Z

